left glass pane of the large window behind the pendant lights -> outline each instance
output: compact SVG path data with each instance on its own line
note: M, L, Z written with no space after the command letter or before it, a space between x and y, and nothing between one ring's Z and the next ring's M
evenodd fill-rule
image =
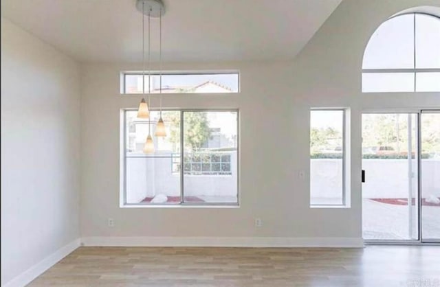
M125 112L126 203L180 203L180 112L163 111L167 137L155 137L158 111L150 111L154 154L142 151L148 135L148 119L137 111Z

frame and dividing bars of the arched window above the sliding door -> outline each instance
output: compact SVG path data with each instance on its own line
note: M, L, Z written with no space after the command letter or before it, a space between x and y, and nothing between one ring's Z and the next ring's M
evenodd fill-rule
M364 65L364 57L365 57L365 53L366 53L366 47L365 47L364 55L362 57L362 72L361 72L361 91L362 91L362 93L437 93L438 92L438 91L417 91L417 73L440 73L440 68L417 68L416 67L416 65L417 65L417 62L416 62L416 55L417 55L416 15L421 14L421 15L425 15L425 16L432 16L432 17L436 18L438 21L440 21L440 16L437 16L434 14L429 14L429 13L423 13L423 12L407 12L407 13L401 13L401 14L397 14L395 16L391 16L390 18L386 19L386 21L389 21L389 20L396 18L396 17L399 17L399 16L408 15L408 14L412 14L414 17L413 21L412 21L412 33L414 35L412 56L414 58L414 67L402 68L402 69L364 69L363 65ZM384 21L382 23L385 23L386 21ZM381 25L382 25L382 23L381 23ZM376 28L375 32L377 31L377 29L379 29L379 27ZM373 34L375 32L373 32ZM369 41L370 40L371 40L371 37L370 37ZM368 43L367 43L367 46L368 46ZM364 80L363 80L364 74L375 74L375 73L389 73L389 74L412 73L412 76L414 77L414 89L413 89L413 91L410 91L410 92L404 92L404 91L364 91Z

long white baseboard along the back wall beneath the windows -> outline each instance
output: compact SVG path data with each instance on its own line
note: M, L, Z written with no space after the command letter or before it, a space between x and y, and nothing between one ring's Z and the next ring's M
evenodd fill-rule
M85 237L84 246L340 247L361 248L362 238Z

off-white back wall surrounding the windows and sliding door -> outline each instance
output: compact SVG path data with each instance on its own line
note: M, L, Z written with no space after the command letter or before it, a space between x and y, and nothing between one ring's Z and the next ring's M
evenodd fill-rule
M239 69L240 94L164 95L166 108L240 109L241 206L119 207L119 73L140 65L89 64L82 97L82 236L361 238L361 113L378 108L439 107L438 93L362 94L364 47L389 16L437 0L343 1L294 61L175 63L165 69ZM156 69L156 68L153 68ZM153 96L152 106L158 106ZM309 108L349 106L351 208L309 208ZM305 171L306 179L298 172ZM254 218L263 227L254 227ZM107 227L107 218L115 227ZM233 222L233 224L231 224Z

